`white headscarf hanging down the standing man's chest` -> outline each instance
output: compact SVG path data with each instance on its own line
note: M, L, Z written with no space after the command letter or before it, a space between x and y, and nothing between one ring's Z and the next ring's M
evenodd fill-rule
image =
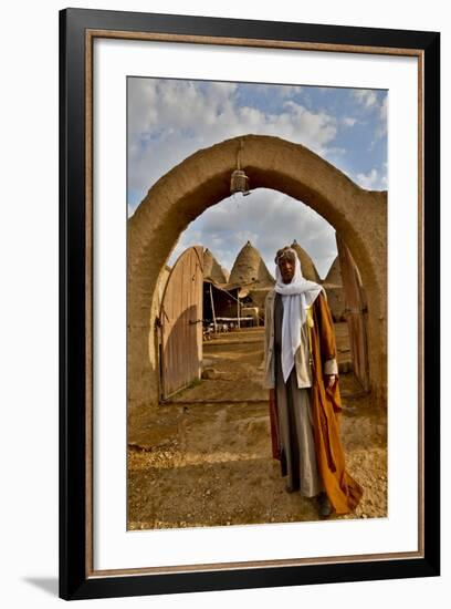
M285 252L294 254L294 276L290 283L284 283L279 265L276 265L274 289L282 295L282 372L283 380L286 382L294 365L295 353L301 344L301 328L307 317L306 310L324 288L303 277L296 250L289 248L283 254L285 255Z

